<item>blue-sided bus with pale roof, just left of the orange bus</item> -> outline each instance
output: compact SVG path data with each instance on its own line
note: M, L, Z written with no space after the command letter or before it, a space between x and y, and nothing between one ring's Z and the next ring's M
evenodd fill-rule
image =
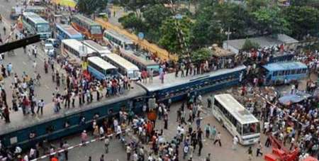
M62 41L64 39L75 39L75 40L83 40L83 35L72 26L64 25L56 23L55 26L57 27L57 39Z

